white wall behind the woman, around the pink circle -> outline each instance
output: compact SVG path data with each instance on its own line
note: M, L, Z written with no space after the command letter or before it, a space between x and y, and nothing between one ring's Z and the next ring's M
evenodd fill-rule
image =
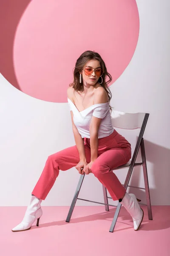
M125 72L111 85L111 105L125 112L150 113L144 133L152 205L170 204L170 113L168 69L170 23L168 0L137 0L140 33L133 58ZM63 118L64 116L64 118ZM134 148L136 131L120 131ZM48 155L74 145L67 103L34 99L0 76L0 205L27 205ZM140 168L131 184L144 186ZM127 170L115 172L123 182ZM79 173L60 171L42 205L70 205ZM88 189L87 189L88 188ZM130 190L145 202L144 192ZM103 201L102 185L85 177L80 198ZM78 201L77 205L96 205Z

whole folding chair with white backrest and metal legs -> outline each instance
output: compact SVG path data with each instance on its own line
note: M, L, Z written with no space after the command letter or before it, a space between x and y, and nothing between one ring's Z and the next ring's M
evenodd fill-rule
M140 129L139 137L138 137L138 140L137 140L137 143L136 143L136 147L135 147L132 159L128 163L126 163L122 166L119 166L119 167L117 167L113 170L122 169L122 168L129 168L128 172L127 172L126 179L125 179L125 183L123 184L125 189L127 189L127 187L129 186L128 184L129 184L129 180L130 180L130 177L131 177L131 174L132 174L132 171L133 171L133 167L134 166L142 166L143 174L144 174L144 188L137 187L137 186L129 186L129 187L145 189L147 204L142 204L142 205L147 206L148 218L149 218L149 220L152 220L153 219L152 218L152 209L151 209L151 204L150 204L150 192L149 192L149 184L148 184L148 177L147 177L147 165L146 165L144 140L143 140L144 129L146 127L148 117L149 117L148 113L124 113L124 112L115 111L115 110L112 111L112 113L111 113L111 119L112 119L113 127L122 128L122 129L138 129L138 128ZM137 157L137 154L139 152L139 148L141 148L142 162L136 163L136 157ZM96 203L96 204L104 204L106 211L109 211L109 206L115 206L115 205L112 205L112 204L108 204L108 198L111 198L111 197L108 197L107 189L105 188L104 185L102 185L102 187L103 187L103 195L104 195L104 202L105 203L78 198L79 191L81 189L84 177L85 177L85 174L80 175L79 183L77 185L77 189L76 189L76 192L74 194L74 198L73 198L73 201L71 203L71 207L69 209L68 216L66 218L66 222L70 222L71 215L73 213L74 206L76 204L77 199L78 200L83 200L83 201L88 201L88 202L93 202L93 203ZM141 204L141 203L139 203L139 204ZM121 206L122 206L122 204L118 203L109 232L113 232L113 230L114 230L114 227L115 227L115 224L116 224Z

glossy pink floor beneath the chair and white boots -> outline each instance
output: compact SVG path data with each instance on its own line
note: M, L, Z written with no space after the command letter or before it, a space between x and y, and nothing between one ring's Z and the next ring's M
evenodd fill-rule
M1 256L170 256L170 206L153 206L153 221L133 230L130 215L121 208L115 231L109 232L115 208L76 206L71 222L69 207L42 207L40 226L12 232L26 207L0 207Z

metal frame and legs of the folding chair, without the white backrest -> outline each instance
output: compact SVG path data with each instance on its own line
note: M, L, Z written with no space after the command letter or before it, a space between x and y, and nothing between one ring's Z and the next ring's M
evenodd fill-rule
M150 191L149 191L148 176L147 176L147 164L146 164L146 156L145 156L144 140L143 140L143 134L144 134L144 130L145 130L145 127L146 127L146 124L147 124L148 117L149 117L149 113L145 113L144 114L144 119L143 119L143 122L142 122L142 126L141 126L141 130L140 130L140 133L139 133L139 137L138 137L136 147L135 147L135 150L134 150L134 153L133 153L133 157L132 157L130 163L119 166L119 167L117 167L113 170L129 167L128 172L127 172L127 176L126 176L126 179L125 179L125 183L122 184L122 185L125 187L125 189L127 189L127 187L133 187L133 188L139 188L139 189L144 189L145 190L147 204L142 204L142 203L139 203L139 204L147 206L148 218L149 218L149 220L152 220L153 218L152 218L152 209L151 209L151 203L150 203ZM139 148L141 149L142 162L136 163L136 157L137 157L137 154L139 152ZM134 166L142 166L143 174L144 174L144 186L145 186L145 188L128 185ZM81 189L84 177L85 177L85 174L81 175L80 178L79 178L79 183L77 185L77 189L76 189L76 192L74 194L74 198L72 200L71 207L69 209L68 216L66 218L66 222L70 222L71 215L73 213L73 210L74 210L74 207L75 207L75 204L76 204L77 200L88 201L88 202L92 202L92 203L96 203L96 204L103 204L103 205L105 205L105 210L106 211L109 211L109 206L114 206L114 207L116 207L116 212L114 214L113 221L112 221L112 224L111 224L111 227L110 227L110 230L109 230L109 232L113 233L113 230L114 230L114 227L116 225L116 221L117 221L119 211L120 211L120 208L121 208L122 204L118 203L117 206L112 205L112 204L108 204L108 198L111 198L111 197L108 197L107 189L105 188L104 185L102 185L102 187L103 187L103 195L104 195L104 202L105 203L78 198L79 191Z

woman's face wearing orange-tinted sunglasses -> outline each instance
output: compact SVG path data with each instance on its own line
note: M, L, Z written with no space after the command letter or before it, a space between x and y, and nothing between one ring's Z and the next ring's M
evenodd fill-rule
M96 84L96 82L99 80L99 77L100 77L100 70L101 70L101 65L100 65L100 61L98 60L90 60L88 61L85 66L83 67L83 70L82 70L82 81L83 81L83 84L91 84L91 85L94 85ZM93 73L91 73L91 69L96 69L96 73L94 72L93 70ZM86 71L84 71L86 70ZM87 73L88 72L88 73ZM89 73L91 73L89 75ZM101 73L102 74L102 73Z

